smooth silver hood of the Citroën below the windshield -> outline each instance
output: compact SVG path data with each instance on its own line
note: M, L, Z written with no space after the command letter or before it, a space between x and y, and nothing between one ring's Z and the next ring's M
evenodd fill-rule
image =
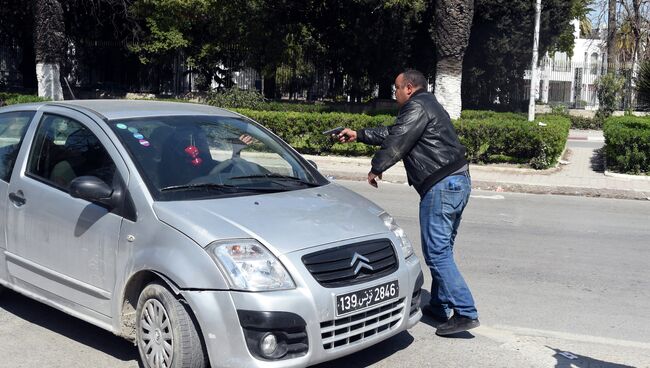
M281 254L387 232L383 210L330 183L316 188L209 200L155 202L158 218L205 247L254 238Z

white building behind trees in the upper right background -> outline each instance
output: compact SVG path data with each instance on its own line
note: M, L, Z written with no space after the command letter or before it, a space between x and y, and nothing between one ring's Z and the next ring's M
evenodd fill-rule
M551 105L597 109L596 80L607 71L606 32L599 30L594 35L583 36L577 20L575 27L573 56L564 52L548 53L540 61L540 83L537 99ZM526 71L524 79L530 80Z

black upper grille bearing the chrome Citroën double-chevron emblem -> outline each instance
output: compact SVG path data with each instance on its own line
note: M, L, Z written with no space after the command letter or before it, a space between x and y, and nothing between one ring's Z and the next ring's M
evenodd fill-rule
M324 287L340 287L371 281L398 268L393 244L388 239L361 243L307 254L303 264Z

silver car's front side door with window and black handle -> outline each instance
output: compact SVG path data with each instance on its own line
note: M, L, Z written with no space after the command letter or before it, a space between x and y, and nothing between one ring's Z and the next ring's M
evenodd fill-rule
M100 126L82 113L47 107L33 134L8 188L9 274L37 295L110 316L122 217L71 197L68 189L84 175L109 185L116 176L126 182L126 165Z

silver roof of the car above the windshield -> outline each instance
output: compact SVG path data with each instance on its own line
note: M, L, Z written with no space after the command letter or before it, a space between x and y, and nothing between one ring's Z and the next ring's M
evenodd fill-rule
M209 105L147 100L70 100L30 103L22 107L39 108L41 106L63 106L75 110L87 110L108 120L180 115L240 116Z

